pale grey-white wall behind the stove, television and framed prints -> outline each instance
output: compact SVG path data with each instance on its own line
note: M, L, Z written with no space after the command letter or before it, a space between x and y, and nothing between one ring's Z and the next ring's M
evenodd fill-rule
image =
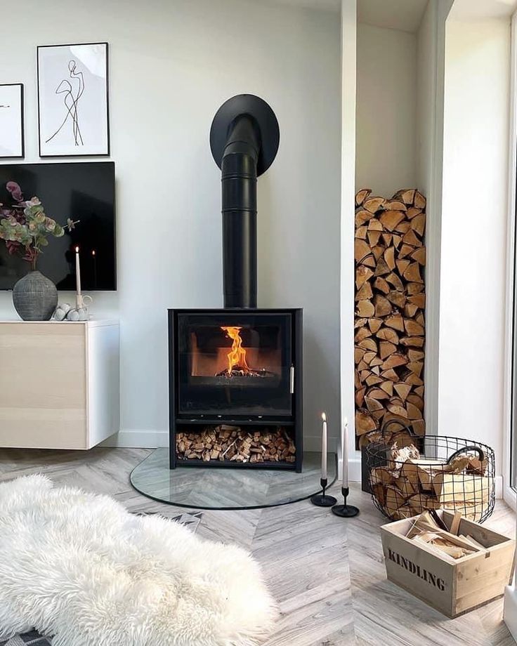
M19 0L4 12L0 79L22 81L37 162L36 46L109 41L121 322L122 441L166 443L166 308L222 305L221 176L209 151L224 100L256 93L281 128L258 183L263 307L305 308L305 434L339 427L339 20L246 0ZM21 22L20 22L21 20ZM0 294L0 317L14 317Z

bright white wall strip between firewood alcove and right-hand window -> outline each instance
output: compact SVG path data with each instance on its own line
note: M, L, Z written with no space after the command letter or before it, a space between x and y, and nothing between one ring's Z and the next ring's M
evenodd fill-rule
M508 19L447 21L439 430L490 444L501 473Z

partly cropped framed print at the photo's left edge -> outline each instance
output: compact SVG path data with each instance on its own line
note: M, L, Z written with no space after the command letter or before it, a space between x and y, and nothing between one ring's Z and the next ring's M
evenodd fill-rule
M24 147L23 85L0 84L0 159L22 159Z

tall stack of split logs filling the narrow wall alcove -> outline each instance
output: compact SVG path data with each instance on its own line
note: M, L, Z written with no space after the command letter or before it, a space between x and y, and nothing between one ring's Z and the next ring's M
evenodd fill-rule
M355 433L381 439L398 419L424 435L426 199L355 196ZM396 425L393 431L400 431ZM391 435L396 437L391 437ZM403 439L389 433L385 440Z

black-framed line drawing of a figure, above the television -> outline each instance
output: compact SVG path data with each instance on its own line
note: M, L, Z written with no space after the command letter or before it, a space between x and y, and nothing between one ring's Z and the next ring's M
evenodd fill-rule
M107 43L42 45L39 156L110 154Z

